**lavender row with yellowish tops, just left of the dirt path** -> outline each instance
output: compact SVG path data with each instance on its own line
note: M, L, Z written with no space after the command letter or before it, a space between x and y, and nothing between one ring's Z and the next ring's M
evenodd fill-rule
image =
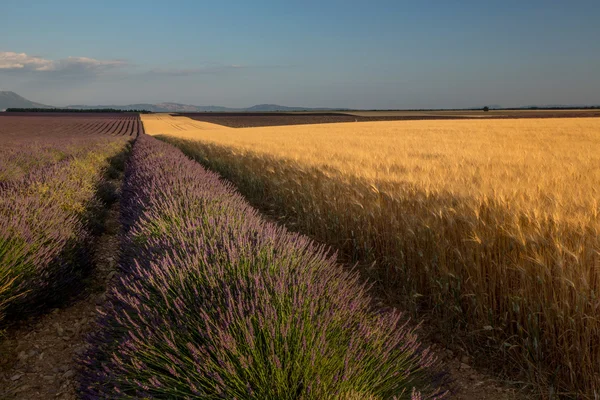
M126 143L98 139L94 149L76 149L77 158L0 185L0 327L5 314L28 315L60 301L82 276L96 188Z

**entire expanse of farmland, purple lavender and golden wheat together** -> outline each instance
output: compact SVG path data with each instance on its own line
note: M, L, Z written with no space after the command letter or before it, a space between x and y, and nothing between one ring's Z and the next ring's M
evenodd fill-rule
M3 115L0 395L451 397L410 313L542 395L593 398L599 135ZM459 398L515 398L467 373Z

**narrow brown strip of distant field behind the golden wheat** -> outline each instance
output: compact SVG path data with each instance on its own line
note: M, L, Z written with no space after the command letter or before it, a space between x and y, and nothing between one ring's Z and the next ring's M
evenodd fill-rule
M262 113L177 113L198 121L232 128L374 122L402 120L473 119L473 118L575 118L600 117L600 110L478 110L461 111L342 111L342 112L262 112Z

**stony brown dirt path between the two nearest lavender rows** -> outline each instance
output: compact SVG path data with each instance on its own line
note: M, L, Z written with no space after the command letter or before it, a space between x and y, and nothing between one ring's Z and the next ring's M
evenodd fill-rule
M0 399L76 399L74 359L86 350L96 309L114 275L119 248L119 205L107 213L96 237L96 268L81 298L65 308L9 329L0 342Z

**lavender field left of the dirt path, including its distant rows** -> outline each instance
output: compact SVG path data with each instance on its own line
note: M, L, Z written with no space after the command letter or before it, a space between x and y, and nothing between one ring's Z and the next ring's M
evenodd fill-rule
M141 129L137 116L0 118L0 329L7 314L60 302L86 273L96 191L129 140L110 135L132 123Z

